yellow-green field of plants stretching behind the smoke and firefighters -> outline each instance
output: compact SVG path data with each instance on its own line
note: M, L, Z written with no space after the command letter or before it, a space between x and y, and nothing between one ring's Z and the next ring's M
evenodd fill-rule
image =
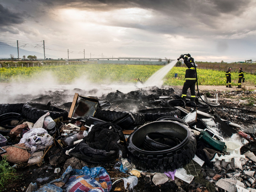
M114 64L86 64L69 66L44 66L44 67L17 67L0 68L0 82L42 80L44 77L52 76L59 83L72 83L79 78L84 78L96 83L112 82L137 82L139 78L145 82L152 74L162 66L147 65L114 65ZM184 67L173 67L164 78L164 85L180 85L185 81ZM174 78L177 73L178 77ZM198 85L226 85L224 71L197 68ZM245 73L246 82L256 84L254 74ZM237 86L238 73L232 73L232 86Z

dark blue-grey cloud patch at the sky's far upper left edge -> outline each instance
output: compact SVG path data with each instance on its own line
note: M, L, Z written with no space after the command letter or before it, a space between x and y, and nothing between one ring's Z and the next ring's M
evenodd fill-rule
M3 26L22 24L22 22L24 22L24 19L20 13L14 13L0 4L0 28Z

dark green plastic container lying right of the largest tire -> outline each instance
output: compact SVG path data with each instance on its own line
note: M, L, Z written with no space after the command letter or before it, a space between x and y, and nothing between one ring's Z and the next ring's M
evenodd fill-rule
M208 144L209 146L211 146L217 151L220 151L220 152L226 151L227 146L225 145L225 142L215 140L206 131L201 131L198 139Z

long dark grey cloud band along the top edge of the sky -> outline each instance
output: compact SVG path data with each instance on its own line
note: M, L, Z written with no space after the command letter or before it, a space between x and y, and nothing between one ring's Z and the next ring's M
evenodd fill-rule
M251 0L39 0L36 2L45 6L87 8L99 11L136 7L156 10L168 15L174 15L178 11L183 14L199 11L206 15L217 16L220 13L238 14L246 11L244 8L250 5ZM182 14L176 16L182 16Z

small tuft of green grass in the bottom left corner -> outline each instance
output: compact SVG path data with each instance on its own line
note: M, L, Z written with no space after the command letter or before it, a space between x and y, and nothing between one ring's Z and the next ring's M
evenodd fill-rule
M4 156L0 161L0 191L4 190L4 186L6 186L8 182L13 182L19 178L15 172L16 170L9 165L6 161L6 156Z

